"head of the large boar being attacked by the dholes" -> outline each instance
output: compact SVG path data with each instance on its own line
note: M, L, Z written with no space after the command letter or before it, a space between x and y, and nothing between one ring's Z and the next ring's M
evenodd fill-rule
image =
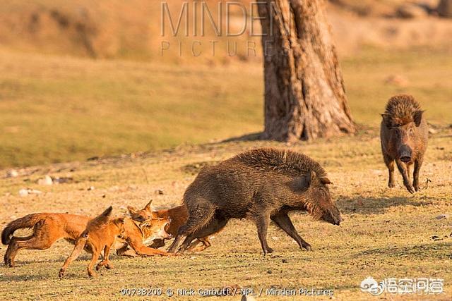
M331 181L328 178L319 178L314 171L311 171L307 178L307 200L306 209L316 219L338 225L342 221L338 207L331 199L328 184Z

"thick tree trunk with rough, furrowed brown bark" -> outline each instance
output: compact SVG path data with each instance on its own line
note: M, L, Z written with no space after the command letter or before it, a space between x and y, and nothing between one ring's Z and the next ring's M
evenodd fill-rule
M355 133L323 5L322 0L258 5L266 139L293 142Z

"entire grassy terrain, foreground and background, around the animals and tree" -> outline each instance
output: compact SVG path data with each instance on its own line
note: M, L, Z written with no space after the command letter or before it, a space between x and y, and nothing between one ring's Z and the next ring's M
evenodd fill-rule
M172 1L172 10L179 2ZM259 49L254 58L244 56L244 48L230 58L223 47L218 56L195 59L188 44L183 56L172 49L162 58L157 1L0 5L0 228L35 212L94 216L112 205L124 216L127 205L142 207L149 199L157 209L173 207L202 166L255 147L292 149L319 161L344 219L333 226L294 213L295 227L314 251L299 250L272 226L268 243L275 253L266 257L254 224L232 220L204 252L112 254L114 269L97 278L88 278L90 255L83 253L60 280L73 246L59 241L49 250L20 252L14 268L0 264L0 300L145 299L121 295L136 288L161 288L151 300L206 300L167 296L169 289L191 288L252 288L258 301L311 300L272 297L270 288L334 291L316 300L452 300L451 20L396 18L405 0L330 2L358 133L295 144L252 140L263 130ZM211 38L210 32L203 42ZM172 41L178 39L192 42ZM398 93L415 95L432 129L422 190L414 195L397 171L396 188L387 188L380 150L379 113ZM11 169L17 177L7 176ZM40 185L46 175L68 181ZM42 193L20 196L24 188ZM1 258L6 247L0 245ZM368 276L442 278L444 293L372 297L359 289Z

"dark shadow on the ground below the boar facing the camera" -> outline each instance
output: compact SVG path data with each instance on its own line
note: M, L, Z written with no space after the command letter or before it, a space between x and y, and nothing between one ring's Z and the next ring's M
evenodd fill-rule
M386 209L399 206L427 206L434 197L413 199L412 197L344 197L336 204L343 214L384 214Z

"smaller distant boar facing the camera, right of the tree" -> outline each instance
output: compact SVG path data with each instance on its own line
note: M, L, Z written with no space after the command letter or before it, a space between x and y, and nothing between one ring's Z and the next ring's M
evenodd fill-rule
M394 161L403 176L403 184L409 192L420 190L419 171L427 149L429 129L420 105L411 95L400 94L389 99L386 111L381 114L381 152L388 166L388 187L394 187ZM413 181L410 182L410 166L415 164Z

